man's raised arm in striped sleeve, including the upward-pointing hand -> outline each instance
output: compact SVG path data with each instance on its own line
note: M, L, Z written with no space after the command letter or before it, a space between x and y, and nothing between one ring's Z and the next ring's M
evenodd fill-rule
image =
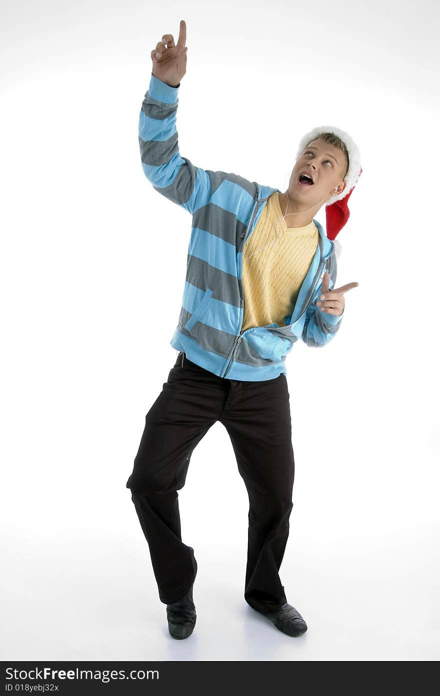
M211 196L207 171L181 157L176 129L178 91L187 69L187 25L180 21L177 44L164 34L151 52L150 86L139 116L139 148L143 173L152 186L191 214Z

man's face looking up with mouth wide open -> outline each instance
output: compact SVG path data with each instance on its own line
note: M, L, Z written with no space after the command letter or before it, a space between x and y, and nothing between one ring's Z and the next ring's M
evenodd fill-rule
M317 203L330 196L342 193L346 187L343 180L347 173L348 161L342 150L317 139L304 148L290 175L289 194L304 203ZM301 173L307 173L313 184ZM300 180L301 177L301 180ZM337 191L334 189L337 188Z

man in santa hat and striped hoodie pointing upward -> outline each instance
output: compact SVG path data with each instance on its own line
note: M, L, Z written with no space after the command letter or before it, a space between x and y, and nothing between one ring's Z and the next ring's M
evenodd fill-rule
M194 549L182 542L178 490L194 448L221 422L249 493L244 598L276 628L297 636L307 625L288 604L278 576L294 481L285 357L299 338L316 347L329 342L340 326L343 293L358 285L334 288L330 239L347 219L343 199L346 205L360 175L359 151L347 134L339 132L341 139L315 129L301 142L281 195L235 174L195 167L180 157L175 127L185 42L182 20L177 45L166 34L152 50L139 120L144 173L159 193L192 214L193 227L171 340L178 357L147 413L126 485L148 541L159 599L167 605L169 633L187 638L196 624L197 563ZM313 214L331 198L343 203L333 209L326 235ZM164 255L172 237L166 240Z

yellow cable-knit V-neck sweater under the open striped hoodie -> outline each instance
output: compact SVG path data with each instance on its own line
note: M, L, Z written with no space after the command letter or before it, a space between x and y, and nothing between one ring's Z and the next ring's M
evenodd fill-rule
M278 191L274 191L244 244L242 331L274 322L285 326L315 254L320 237L315 223L288 227L282 215Z

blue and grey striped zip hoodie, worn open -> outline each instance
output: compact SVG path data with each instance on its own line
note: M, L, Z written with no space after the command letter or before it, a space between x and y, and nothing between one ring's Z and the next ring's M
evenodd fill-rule
M176 129L177 87L153 74L139 116L143 173L156 191L191 213L191 238L182 307L171 346L219 377L258 381L287 374L285 358L300 338L326 345L339 317L315 305L326 271L336 283L335 245L322 225L319 244L285 326L267 324L242 331L242 255L274 189L237 174L196 167L181 157Z

